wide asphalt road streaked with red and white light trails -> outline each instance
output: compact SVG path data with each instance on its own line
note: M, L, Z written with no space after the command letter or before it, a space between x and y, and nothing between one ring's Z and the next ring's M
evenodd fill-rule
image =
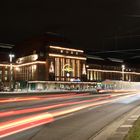
M139 104L139 93L2 98L0 139L89 140Z

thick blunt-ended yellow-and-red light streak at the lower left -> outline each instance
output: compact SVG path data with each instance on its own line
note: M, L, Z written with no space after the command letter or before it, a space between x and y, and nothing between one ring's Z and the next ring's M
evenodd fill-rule
M42 113L38 115L32 115L14 121L8 121L0 124L0 138L15 134L36 126L47 124L54 119L49 113Z

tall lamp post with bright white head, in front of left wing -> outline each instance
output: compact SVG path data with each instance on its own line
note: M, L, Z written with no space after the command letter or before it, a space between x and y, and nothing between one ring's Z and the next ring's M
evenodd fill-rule
M14 57L15 57L14 54L9 54L9 58L10 58L10 90L13 88L13 65L12 65L12 61L13 61Z

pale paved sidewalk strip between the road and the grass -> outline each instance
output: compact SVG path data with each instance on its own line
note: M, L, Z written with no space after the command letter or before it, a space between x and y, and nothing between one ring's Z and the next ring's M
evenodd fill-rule
M96 136L90 140L123 140L134 122L140 117L140 106L124 114L104 127Z

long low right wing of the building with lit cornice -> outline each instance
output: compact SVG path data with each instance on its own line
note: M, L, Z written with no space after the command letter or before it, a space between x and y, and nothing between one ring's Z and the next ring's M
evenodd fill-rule
M140 71L126 66L117 60L104 60L102 58L87 58L87 81L123 80L140 81Z

